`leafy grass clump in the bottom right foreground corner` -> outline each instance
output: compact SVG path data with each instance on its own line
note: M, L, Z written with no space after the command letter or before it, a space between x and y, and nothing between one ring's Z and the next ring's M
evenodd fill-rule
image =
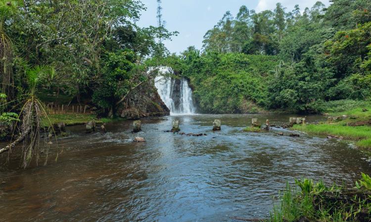
M371 219L371 178L362 174L356 187L314 183L304 179L294 186L286 185L280 196L280 204L274 207L269 222L345 222Z

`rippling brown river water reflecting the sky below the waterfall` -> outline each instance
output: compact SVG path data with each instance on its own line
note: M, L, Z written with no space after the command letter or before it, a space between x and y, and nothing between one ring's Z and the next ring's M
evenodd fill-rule
M233 221L266 218L286 181L313 178L353 186L371 174L365 156L346 141L245 133L252 117L287 122L288 115L193 115L107 125L105 135L69 128L57 162L0 166L0 221ZM222 119L222 131L212 122ZM318 121L322 116L310 116ZM173 119L187 137L165 133ZM146 143L132 143L134 137ZM0 158L3 163L5 158Z

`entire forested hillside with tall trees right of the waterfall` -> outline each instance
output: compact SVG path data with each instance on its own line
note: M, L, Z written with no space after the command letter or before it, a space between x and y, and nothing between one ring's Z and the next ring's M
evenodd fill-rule
M371 1L330 3L259 13L241 6L206 32L202 51L166 61L190 79L203 112L320 112L326 101L368 100Z

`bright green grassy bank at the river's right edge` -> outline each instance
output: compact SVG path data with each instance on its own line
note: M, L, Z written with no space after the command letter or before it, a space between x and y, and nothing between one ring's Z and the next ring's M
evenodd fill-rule
M327 114L341 118L319 124L294 125L293 129L329 138L353 140L357 147L371 150L371 106Z

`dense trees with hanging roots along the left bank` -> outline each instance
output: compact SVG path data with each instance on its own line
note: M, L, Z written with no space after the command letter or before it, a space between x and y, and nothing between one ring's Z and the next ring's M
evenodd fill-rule
M156 74L147 70L166 52L157 39L177 33L138 27L142 10L138 0L0 0L0 124L19 132L0 153L24 141L23 166L38 157L40 132L52 131L39 99L49 92L112 116Z

